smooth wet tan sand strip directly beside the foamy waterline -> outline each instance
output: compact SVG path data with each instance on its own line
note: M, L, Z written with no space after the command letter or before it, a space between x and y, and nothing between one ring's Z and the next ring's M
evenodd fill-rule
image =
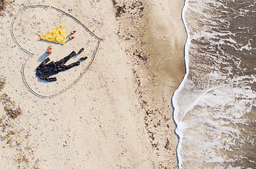
M150 11L154 18L148 23L148 131L155 133L153 145L156 146L159 168L178 168L176 146L178 138L174 134L172 120L172 95L185 75L184 44L186 32L181 20L181 1L158 1ZM173 5L175 4L175 5ZM151 121L153 120L153 121ZM151 121L151 122L150 122ZM157 150L158 149L158 150Z

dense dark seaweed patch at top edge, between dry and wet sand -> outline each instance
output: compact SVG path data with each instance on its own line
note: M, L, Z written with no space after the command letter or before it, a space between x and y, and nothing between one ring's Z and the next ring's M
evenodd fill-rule
M144 4L141 0L119 1L112 0L115 8L116 20L119 21L117 35L120 39L124 39L131 43L131 48L126 49L127 53L133 54L134 59L142 61L148 60L148 53L145 53L146 42L144 42ZM131 27L127 28L127 25ZM135 50L135 51L134 51ZM140 61L136 64L140 64Z

